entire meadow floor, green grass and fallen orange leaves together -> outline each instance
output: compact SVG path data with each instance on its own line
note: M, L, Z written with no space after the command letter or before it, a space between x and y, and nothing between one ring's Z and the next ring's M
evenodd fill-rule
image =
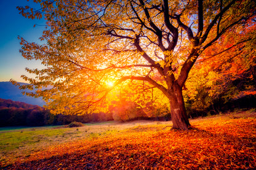
M0 129L0 169L255 169L255 110L172 122Z

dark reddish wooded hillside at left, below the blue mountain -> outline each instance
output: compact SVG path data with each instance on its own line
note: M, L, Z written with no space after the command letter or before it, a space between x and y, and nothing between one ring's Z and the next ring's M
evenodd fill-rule
M99 122L113 120L105 114L65 115L51 114L41 106L27 104L11 99L0 98L0 127L1 126L45 126L67 125L71 122Z

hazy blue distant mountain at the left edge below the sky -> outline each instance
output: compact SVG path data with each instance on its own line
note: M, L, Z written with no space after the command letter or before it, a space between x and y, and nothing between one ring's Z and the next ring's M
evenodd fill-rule
M18 87L10 82L0 82L0 98L26 102L38 106L43 106L45 104L42 98L32 98L30 96L22 95L22 90L18 89Z

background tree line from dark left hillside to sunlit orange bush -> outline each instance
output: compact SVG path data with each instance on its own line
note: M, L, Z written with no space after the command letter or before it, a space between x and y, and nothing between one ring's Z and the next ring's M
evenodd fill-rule
M106 122L115 120L126 122L136 119L148 119L142 109L137 109L134 102L126 102L126 107L111 106L108 112L94 112L90 114L52 114L44 107L26 104L25 102L0 99L0 126L45 126L67 125L71 122ZM155 114L158 120L169 120L169 113ZM152 117L151 117L152 118Z

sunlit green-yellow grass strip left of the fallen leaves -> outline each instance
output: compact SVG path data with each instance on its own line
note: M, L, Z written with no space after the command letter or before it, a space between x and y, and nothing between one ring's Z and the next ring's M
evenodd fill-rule
M111 122L113 123L113 122ZM90 123L74 128L64 126L7 127L0 128L0 166L38 150L67 142L95 139L118 133L119 126L106 123Z

